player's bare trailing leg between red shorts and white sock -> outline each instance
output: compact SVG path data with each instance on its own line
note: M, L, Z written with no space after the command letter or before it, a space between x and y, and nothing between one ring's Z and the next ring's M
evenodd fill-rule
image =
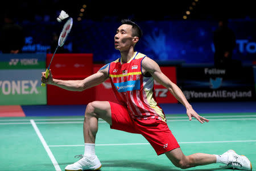
M165 154L175 166L181 169L216 163L215 155L195 153L193 155L185 156L180 148L175 148Z

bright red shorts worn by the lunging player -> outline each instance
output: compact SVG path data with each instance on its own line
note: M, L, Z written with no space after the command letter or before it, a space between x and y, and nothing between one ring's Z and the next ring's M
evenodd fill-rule
M158 119L133 119L125 106L114 102L109 102L109 104L112 113L111 129L143 135L157 155L180 147L166 122Z

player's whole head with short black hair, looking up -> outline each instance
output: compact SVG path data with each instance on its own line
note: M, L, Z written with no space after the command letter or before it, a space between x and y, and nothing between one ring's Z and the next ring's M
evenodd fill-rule
M129 19L121 21L122 25L118 27L115 33L115 49L128 50L130 46L137 44L142 36L142 30L137 24Z

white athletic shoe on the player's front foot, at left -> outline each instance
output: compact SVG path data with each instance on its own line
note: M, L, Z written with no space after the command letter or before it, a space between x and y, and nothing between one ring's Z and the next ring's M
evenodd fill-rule
M82 155L79 156L81 156L82 158L76 163L67 165L65 167L65 171L98 170L101 168L101 162L100 160L98 160L97 156L93 160L87 159L85 156Z

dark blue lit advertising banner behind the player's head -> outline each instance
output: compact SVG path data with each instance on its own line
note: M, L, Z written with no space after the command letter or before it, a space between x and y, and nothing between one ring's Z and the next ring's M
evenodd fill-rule
M135 21L136 22L136 21ZM213 63L213 31L217 22L196 20L137 22L143 36L135 50L156 61ZM63 23L26 23L25 53L50 53L56 48L53 33L59 36ZM72 31L57 53L93 53L94 62L113 61L119 57L114 49L114 35L120 23L83 20L73 23ZM255 61L256 25L253 20L233 20L229 27L236 35L233 59L243 63ZM61 47L62 48L62 47ZM52 52L53 53L53 52Z

